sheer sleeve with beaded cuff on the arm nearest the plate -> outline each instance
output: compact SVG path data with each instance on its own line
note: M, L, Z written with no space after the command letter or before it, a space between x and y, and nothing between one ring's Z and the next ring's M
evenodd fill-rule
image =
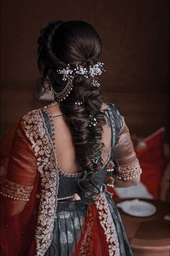
M120 180L132 180L138 177L142 170L133 148L128 126L122 117L123 125L119 133L118 143L115 146L115 170Z

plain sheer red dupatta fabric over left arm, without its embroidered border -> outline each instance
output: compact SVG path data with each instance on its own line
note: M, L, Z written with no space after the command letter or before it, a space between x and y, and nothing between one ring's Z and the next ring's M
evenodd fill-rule
M29 184L31 179L34 180L30 200L22 213L11 216L10 206L13 206L14 200L1 197L1 255L35 255L35 226L37 222L35 211L37 212L40 200L36 197L40 191L40 175L36 172L36 159L31 151L30 141L25 137L21 123L7 133L1 143L1 187L3 187L5 179L12 182L17 181L20 185L26 185L27 182ZM24 155L27 156L27 161L24 159ZM30 166L28 162L30 162ZM28 171L29 168L32 169L32 172ZM21 176L23 169L24 178ZM37 174L35 178L33 177L34 173ZM15 192L13 191L13 193ZM17 208L17 201L15 202Z

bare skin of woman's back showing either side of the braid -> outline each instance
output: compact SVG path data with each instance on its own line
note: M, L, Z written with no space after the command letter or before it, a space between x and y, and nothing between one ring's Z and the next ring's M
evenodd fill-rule
M103 104L101 110L107 109L107 105ZM76 151L73 145L73 137L64 120L60 105L56 104L46 108L51 115L50 125L53 125L53 144L55 146L55 153L57 155L58 167L63 172L75 173L81 171L81 166L76 159ZM102 163L104 164L111 152L111 128L108 123L103 126L102 143Z

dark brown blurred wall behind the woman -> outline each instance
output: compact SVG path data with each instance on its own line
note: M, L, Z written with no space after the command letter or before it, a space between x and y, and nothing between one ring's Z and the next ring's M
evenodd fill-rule
M56 19L90 22L103 41L104 91L131 133L169 133L169 0L1 0L1 137L36 107L37 37Z

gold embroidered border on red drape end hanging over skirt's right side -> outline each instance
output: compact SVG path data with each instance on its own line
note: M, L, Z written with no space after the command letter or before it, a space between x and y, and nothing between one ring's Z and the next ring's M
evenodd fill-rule
M95 201L99 213L99 221L104 230L106 242L109 248L109 256L120 256L119 241L117 238L117 231L113 222L107 199L104 193L100 193L99 199Z

